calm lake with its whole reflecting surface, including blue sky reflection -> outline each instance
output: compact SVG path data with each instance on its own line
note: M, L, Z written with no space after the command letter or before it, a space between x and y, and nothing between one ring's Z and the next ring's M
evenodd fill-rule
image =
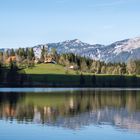
M140 90L0 89L0 140L139 140Z

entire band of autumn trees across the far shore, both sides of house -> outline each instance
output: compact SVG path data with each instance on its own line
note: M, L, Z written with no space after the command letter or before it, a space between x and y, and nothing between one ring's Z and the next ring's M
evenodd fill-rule
M5 52L0 52L0 68L3 66L12 68L15 65L22 69L30 68L35 63L44 63L45 58L51 55L56 63L65 66L67 69L72 68L77 72L108 75L140 74L140 60L130 60L127 63L105 63L73 53L58 54L54 48L49 51L42 47L41 51L40 58L35 57L33 48L8 49Z

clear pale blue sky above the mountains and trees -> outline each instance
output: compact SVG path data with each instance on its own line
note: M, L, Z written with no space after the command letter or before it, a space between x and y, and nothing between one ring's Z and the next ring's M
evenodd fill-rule
M140 0L0 0L0 48L140 36Z

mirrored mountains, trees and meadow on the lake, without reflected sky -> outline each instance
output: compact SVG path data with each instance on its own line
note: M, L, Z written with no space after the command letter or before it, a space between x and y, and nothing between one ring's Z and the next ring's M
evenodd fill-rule
M0 93L0 119L69 129L109 124L140 133L140 92Z

